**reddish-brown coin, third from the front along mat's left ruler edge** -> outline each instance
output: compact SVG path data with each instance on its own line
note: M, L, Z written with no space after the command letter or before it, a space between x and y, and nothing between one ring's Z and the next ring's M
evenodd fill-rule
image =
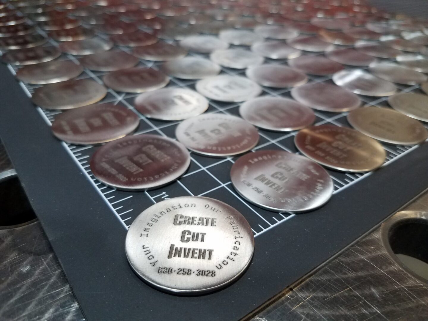
M95 104L57 115L51 128L57 138L67 143L93 145L125 137L139 124L138 116L124 106Z

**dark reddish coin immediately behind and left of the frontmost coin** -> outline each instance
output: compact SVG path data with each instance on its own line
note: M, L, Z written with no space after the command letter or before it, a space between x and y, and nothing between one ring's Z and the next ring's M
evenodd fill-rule
M113 140L90 161L94 176L118 190L162 187L183 175L189 165L189 152L181 143L147 134Z

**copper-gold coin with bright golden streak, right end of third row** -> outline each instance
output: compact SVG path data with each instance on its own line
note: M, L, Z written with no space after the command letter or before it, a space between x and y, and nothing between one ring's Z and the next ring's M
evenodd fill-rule
M304 128L294 143L306 157L342 172L370 172L382 166L386 158L382 145L373 138L335 125Z

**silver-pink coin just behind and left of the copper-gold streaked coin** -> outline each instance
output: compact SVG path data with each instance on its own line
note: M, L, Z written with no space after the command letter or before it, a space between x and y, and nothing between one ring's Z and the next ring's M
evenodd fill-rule
M312 109L281 97L253 98L239 107L239 113L247 122L268 131L295 131L315 122Z

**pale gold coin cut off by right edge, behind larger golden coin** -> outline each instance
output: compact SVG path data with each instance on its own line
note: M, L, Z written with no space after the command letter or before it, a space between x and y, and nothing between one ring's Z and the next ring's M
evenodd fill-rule
M428 122L428 96L400 93L388 98L388 103L398 112L414 119Z

